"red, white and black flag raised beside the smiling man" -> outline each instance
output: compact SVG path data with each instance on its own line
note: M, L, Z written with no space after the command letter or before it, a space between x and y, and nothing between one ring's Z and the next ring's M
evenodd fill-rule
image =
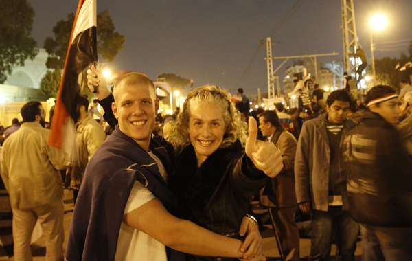
M65 69L47 144L71 155L75 152L76 98L80 93L78 76L98 60L96 46L96 0L80 0L67 49Z

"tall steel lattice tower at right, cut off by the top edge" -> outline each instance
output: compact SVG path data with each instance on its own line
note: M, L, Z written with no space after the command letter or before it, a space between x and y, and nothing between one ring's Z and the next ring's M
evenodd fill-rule
M356 77L356 68L358 59L354 58L358 45L358 35L356 34L355 11L353 0L342 1L342 31L343 31L343 63L344 71L351 75L354 71ZM351 65L350 58L354 58L354 65Z

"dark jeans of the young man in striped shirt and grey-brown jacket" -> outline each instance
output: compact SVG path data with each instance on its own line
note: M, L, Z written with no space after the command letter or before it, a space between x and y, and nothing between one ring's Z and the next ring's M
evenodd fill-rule
M342 206L329 206L328 211L312 210L311 245L308 260L329 260L332 238L336 238L341 260L354 260L359 224L342 211Z

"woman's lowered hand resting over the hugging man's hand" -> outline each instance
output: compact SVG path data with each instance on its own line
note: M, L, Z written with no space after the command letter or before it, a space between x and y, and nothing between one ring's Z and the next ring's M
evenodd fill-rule
M247 237L245 238L240 251L244 252L247 250L243 255L244 259L257 258L262 254L262 236L260 236L259 233L259 225L251 218L244 216L242 225L240 225L239 234L240 236L244 236L246 232ZM266 260L266 258L264 260Z

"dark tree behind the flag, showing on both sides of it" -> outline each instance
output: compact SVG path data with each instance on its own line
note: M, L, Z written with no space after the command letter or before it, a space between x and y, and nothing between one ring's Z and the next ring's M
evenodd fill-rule
M69 45L71 29L74 23L74 14L67 14L67 20L60 20L53 28L54 37L47 37L43 47L49 54L46 67L49 69L63 69ZM108 10L102 11L97 17L98 54L111 62L119 50L123 49L124 36L115 32L115 26Z

